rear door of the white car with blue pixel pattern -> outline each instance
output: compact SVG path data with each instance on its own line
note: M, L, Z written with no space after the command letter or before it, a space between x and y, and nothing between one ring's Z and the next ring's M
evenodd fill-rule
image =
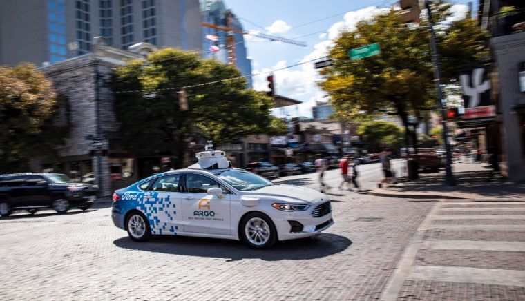
M182 231L180 178L180 174L166 175L151 185L141 187L145 190L143 210L152 223L153 234L176 234Z

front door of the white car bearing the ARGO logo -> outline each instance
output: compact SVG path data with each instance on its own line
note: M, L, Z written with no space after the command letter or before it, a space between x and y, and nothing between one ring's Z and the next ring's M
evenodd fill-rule
M197 173L185 174L183 186L184 232L231 235L231 193L215 179ZM221 188L222 196L208 195L209 188Z

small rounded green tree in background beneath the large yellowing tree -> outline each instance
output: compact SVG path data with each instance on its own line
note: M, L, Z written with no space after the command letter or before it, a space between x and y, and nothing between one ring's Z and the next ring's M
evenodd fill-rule
M387 146L399 148L403 139L401 128L384 120L364 122L359 126L357 135L361 136L363 142L367 144L367 149L372 152L379 152Z

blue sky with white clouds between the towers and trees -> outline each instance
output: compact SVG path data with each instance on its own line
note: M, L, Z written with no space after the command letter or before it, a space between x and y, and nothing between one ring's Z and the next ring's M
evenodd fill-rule
M224 0L240 18L245 31L254 30L307 43L306 47L265 41L245 35L252 73L269 72L327 55L332 40L343 28L352 30L357 21L370 18L396 0ZM457 15L464 15L468 0L454 0ZM268 90L267 75L254 76L255 90ZM274 109L279 117L312 117L316 101L327 101L316 86L314 62L274 72L276 94L303 101L291 108Z

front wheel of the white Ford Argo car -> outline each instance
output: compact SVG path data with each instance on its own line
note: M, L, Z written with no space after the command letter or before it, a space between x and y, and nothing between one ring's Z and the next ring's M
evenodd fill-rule
M239 236L253 249L268 249L277 242L277 230L271 219L260 212L248 213L240 223Z

